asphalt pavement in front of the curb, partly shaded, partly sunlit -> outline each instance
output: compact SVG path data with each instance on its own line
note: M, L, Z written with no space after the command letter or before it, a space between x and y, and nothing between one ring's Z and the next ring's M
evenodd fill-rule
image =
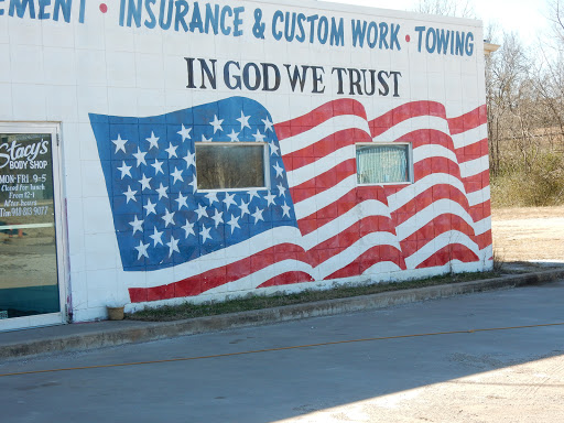
M6 360L2 421L562 422L563 304L561 279Z

